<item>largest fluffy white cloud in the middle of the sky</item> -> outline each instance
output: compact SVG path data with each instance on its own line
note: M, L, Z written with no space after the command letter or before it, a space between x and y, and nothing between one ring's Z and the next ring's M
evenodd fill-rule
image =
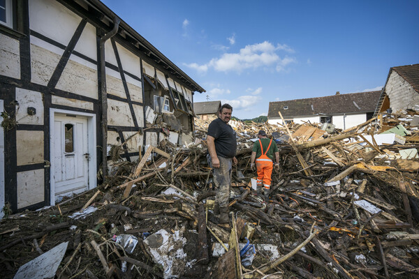
M275 47L272 43L265 41L263 43L247 45L238 53L222 54L221 57L211 59L209 63L203 66L206 66L207 68L214 68L214 70L219 72L235 71L237 73L241 73L246 69L256 69L261 67L273 67L277 71L283 71L290 63L295 63L297 61L294 57L289 56L285 56L281 59L281 57L277 54L278 50L284 50L284 46L281 45L281 47ZM192 66L193 64L196 63L189 65ZM193 65L191 68L200 68L203 66L198 67Z

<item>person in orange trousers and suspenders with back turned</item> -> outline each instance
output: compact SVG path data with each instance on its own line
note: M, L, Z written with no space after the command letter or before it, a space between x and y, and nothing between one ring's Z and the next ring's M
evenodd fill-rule
M270 194L271 186L271 176L273 169L273 158L275 154L275 159L277 163L275 164L275 169L279 169L279 151L276 142L273 142L272 139L269 140L266 136L264 130L260 130L258 133L258 138L253 144L253 151L251 152L251 162L250 167L254 170L255 168L255 159L256 159L256 169L258 169L258 188L257 193L260 193L260 188L263 186L263 192L265 197L268 197Z

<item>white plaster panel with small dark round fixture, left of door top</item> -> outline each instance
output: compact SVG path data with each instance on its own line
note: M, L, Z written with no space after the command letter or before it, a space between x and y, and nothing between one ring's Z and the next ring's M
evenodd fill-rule
M16 121L19 124L44 125L43 96L41 92L16 88ZM35 107L36 114L29 115L28 107Z

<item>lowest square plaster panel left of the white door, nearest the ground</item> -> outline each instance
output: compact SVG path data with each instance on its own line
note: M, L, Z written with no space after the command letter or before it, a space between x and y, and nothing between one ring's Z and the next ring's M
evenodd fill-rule
M17 172L17 209L44 201L44 170Z

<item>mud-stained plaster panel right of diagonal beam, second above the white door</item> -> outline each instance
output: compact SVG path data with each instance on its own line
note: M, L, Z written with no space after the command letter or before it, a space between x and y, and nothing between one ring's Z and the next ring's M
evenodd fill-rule
M82 59L71 54L57 82L57 89L98 99L98 74L95 68L79 63ZM89 63L89 62L86 62Z

